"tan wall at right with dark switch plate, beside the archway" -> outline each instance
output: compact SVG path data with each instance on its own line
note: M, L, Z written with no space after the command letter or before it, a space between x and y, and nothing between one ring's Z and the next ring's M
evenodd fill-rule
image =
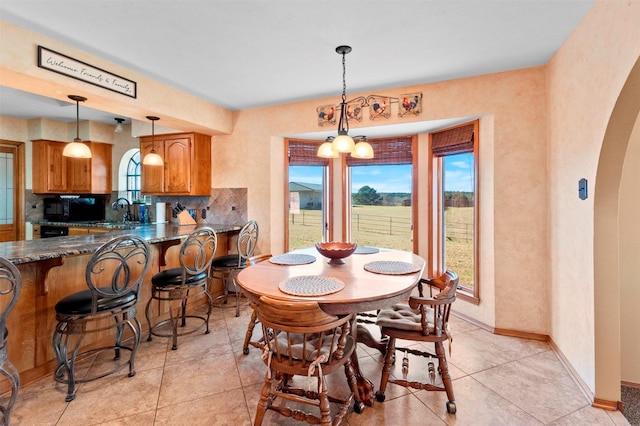
M596 343L606 344L594 337L594 199L603 195L594 190L596 171L612 110L639 54L640 2L598 1L548 65L551 337L591 390ZM585 201L578 199L580 178L591 188Z

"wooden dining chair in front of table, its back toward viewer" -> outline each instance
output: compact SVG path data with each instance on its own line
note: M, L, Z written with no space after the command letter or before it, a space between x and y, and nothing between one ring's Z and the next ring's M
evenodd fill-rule
M317 302L284 301L266 296L252 304L264 334L263 360L267 365L265 381L256 409L255 424L262 424L267 410L310 424L337 425L346 415L354 398L358 410L359 394L351 354L356 342L350 327L353 315L336 317L325 313ZM351 392L344 399L329 396L325 376L344 367ZM293 376L309 378L309 389L290 385ZM311 389L311 377L316 383ZM284 405L276 398L319 408L320 417ZM330 403L338 409L331 418Z

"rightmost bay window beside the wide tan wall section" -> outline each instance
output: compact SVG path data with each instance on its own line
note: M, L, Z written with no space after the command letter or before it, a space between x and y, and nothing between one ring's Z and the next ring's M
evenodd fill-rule
M459 292L478 300L477 143L478 122L431 134L434 165L434 221L432 247L435 267L460 277Z

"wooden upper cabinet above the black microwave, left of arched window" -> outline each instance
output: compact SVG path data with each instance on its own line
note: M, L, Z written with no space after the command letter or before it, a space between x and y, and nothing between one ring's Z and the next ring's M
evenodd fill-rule
M66 142L34 140L34 194L110 194L111 145L85 142L91 158L62 155Z

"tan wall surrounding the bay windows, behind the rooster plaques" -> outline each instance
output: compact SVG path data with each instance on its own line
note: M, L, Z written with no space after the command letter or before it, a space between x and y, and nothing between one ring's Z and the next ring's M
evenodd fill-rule
M485 236L480 262L487 277L481 277L482 303L460 302L456 309L489 325L542 334L548 333L549 317L546 287L540 285L548 264L545 87L545 71L539 67L378 93L422 92L425 112L417 120L480 117L480 227ZM213 186L249 188L249 217L269 224L261 226L268 238L262 249L279 252L283 247L278 222L284 217L284 152L272 137L318 131L316 107L334 100L241 111L234 115L233 134L213 138ZM402 122L392 117L384 124ZM426 158L419 159L419 167L428 168ZM339 169L335 176L340 177ZM418 191L426 194L422 179ZM334 198L338 219L339 195ZM426 211L418 216L426 217ZM272 224L277 233L271 232ZM421 229L426 240L424 222ZM499 302L494 305L494 300ZM523 307L522 300L533 303Z

